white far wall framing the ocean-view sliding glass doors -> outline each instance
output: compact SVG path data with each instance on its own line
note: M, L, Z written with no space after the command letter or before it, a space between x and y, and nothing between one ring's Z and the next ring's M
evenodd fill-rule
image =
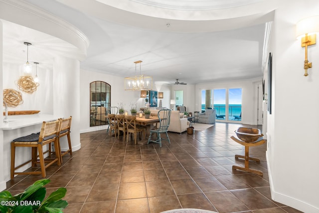
M228 82L212 82L196 84L195 86L195 110L201 111L201 90L206 89L230 89L242 88L242 121L243 124L256 125L257 118L255 115L255 84L261 79L236 80ZM262 98L262 97L260 97ZM233 122L233 121L232 121Z

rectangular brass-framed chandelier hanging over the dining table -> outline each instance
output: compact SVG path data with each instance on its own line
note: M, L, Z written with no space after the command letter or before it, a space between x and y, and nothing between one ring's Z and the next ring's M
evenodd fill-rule
M135 76L126 77L124 79L125 90L152 90L153 89L153 78L149 75L141 74L141 63L143 61L135 61ZM140 75L136 74L137 64L140 64Z

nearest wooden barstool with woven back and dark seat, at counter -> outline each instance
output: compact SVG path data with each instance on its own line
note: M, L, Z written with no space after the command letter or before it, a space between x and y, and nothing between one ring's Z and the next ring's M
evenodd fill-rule
M45 122L43 121L41 126L40 134L32 133L31 135L16 138L11 143L11 179L14 178L14 175L26 175L26 174L42 174L42 177L45 178L46 173L45 169L57 162L57 165L60 166L60 153L59 153L59 143L58 135L60 129L61 119L55 121ZM55 159L44 160L43 155L43 146L54 143L54 146L58 149L55 150ZM31 160L15 167L15 147L31 147ZM39 153L39 161L37 161L37 152ZM49 162L45 165L45 161ZM40 163L41 171L34 172L15 172L16 169L32 162L32 167L36 165L37 162Z

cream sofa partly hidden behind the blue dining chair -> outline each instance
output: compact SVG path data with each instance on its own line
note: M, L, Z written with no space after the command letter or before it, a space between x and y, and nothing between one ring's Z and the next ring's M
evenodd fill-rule
M155 115L158 114L160 110L151 109L151 114ZM181 116L184 116L184 113L181 114ZM171 111L170 113L170 122L168 126L168 132L177 132L182 133L185 132L186 129L189 127L189 121L187 118L180 118L179 111Z

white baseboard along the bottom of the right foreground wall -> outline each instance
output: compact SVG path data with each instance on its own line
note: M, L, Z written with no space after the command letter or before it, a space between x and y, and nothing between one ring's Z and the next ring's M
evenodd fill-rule
M287 205L289 207L292 207L296 210L302 211L304 213L319 213L319 209L310 205L310 204L301 202L301 201L299 201L295 198L289 197L287 195L277 193L274 189L271 167L270 167L269 158L268 158L268 151L266 151L266 161L267 161L270 192L271 192L271 199L272 200L274 200L278 203Z

